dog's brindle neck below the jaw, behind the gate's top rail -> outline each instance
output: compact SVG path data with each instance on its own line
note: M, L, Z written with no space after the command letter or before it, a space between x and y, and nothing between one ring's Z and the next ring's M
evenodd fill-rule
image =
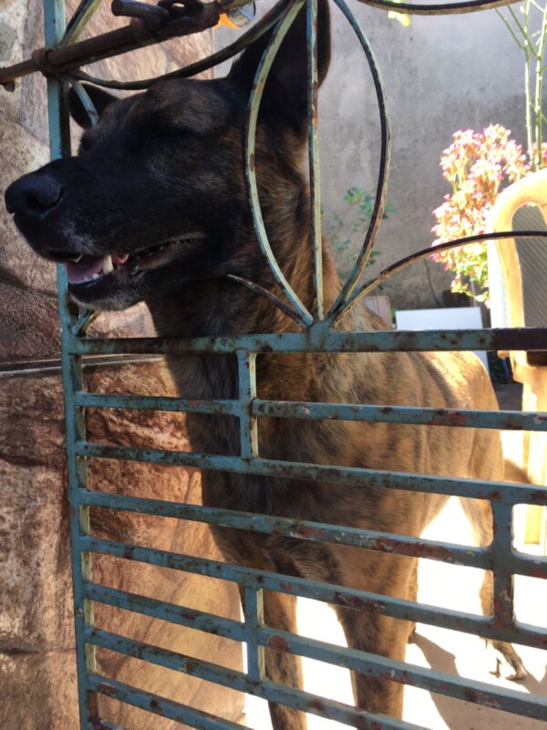
M257 284L281 295L274 276L253 241L257 252L255 278ZM294 241L292 247L284 246L291 255L280 262L284 275L307 308L311 308L313 296L313 271L309 235ZM324 255L325 301L330 303L339 289L338 276L329 252ZM214 278L191 285L148 303L155 327L160 337L233 337L247 334L285 333L298 331L292 318L266 298L227 278ZM306 382L311 377L311 356L260 358L259 385L287 380L291 371L291 390L304 394ZM289 361L290 360L290 361ZM170 370L183 397L235 398L237 397L237 370L235 358L194 356L169 359ZM205 367L203 367L205 365ZM265 393L264 393L265 394ZM294 393L297 396L299 393ZM274 391L269 393L274 395Z

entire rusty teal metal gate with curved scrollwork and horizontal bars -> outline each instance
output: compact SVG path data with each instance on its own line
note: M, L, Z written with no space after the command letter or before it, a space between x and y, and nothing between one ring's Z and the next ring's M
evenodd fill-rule
M384 9L400 9L400 5L384 0L363 0L367 5ZM101 36L94 42L77 43L77 36L89 16L98 7L99 0L82 0L75 16L65 25L63 0L45 0L46 49L35 52L32 60L12 68L0 69L0 82L11 80L40 70L47 77L51 155L58 158L70 154L67 112L63 103L63 88L72 85L80 99L93 115L94 110L80 81L88 78L79 71L82 64L91 60L127 52L135 47L157 42L158 40L184 35L180 22L150 5L139 3L115 3L119 12L133 18L130 26L115 33ZM201 5L193 2L188 5L189 13L198 13L196 29L216 25L220 12L233 3L215 2ZM312 256L315 266L315 308L308 311L285 280L267 240L263 227L257 185L253 170L254 131L260 103L263 80L271 66L272 59L283 39L286 29L298 11L308 8L308 49L309 49L309 158L311 172L311 192L314 208ZM147 662L189 673L193 676L232 687L244 693L255 694L279 704L286 704L304 712L331 718L359 728L376 730L403 730L416 728L408 722L398 721L385 716L370 714L358 708L339 702L318 698L301 690L269 681L264 675L263 654L266 647L294 652L323 662L356 670L379 678L389 678L397 683L413 684L428 691L450 697L471 700L472 702L495 707L511 713L522 714L547 720L547 701L538 695L521 694L517 691L497 688L494 685L460 679L448 673L439 673L418 668L406 662L397 662L382 656L353 649L343 649L325 641L305 640L297 635L277 631L264 624L262 612L263 590L290 593L294 596L308 597L326 601L330 604L350 606L356 610L382 613L397 619L418 620L455 631L466 631L482 637L502 641L514 641L537 648L547 647L547 631L524 625L515 619L513 606L513 578L515 574L547 578L547 559L524 555L512 545L512 513L515 505L547 505L547 490L534 485L511 485L506 483L481 482L470 479L445 478L426 474L402 474L397 472L339 467L325 464L302 464L281 462L261 456L257 442L257 420L263 416L341 419L368 422L391 422L426 424L452 427L472 427L486 429L516 429L546 431L547 414L515 412L450 412L439 409L418 409L408 407L382 408L364 404L335 404L319 402L261 401L256 396L255 359L263 352L392 352L392 351L442 351L442 350L498 350L545 349L545 330L539 328L469 330L458 332L340 332L335 323L348 308L366 295L388 276L408 266L412 261L430 254L430 249L412 256L410 259L390 266L374 281L358 287L357 283L372 250L378 224L382 218L389 163L389 128L386 112L386 99L381 78L377 70L374 54L365 34L358 26L344 0L335 0L351 25L366 54L377 90L382 132L382 155L378 175L377 195L372 221L366 241L358 256L345 287L335 301L334 307L324 312L322 299L321 271L321 221L318 187L318 154L316 125L316 60L315 60L315 0L282 0L263 21L226 51L215 54L209 59L182 69L184 76L191 76L215 63L233 56L253 38L277 24L271 46L264 54L263 61L254 80L253 94L249 106L248 140L246 147L247 182L252 202L256 233L274 271L277 282L282 287L290 306L279 298L270 295L273 306L284 308L285 312L298 322L302 331L290 334L246 335L233 338L183 339L88 339L86 328L90 313L83 312L74 318L67 306L67 280L65 269L60 266L59 301L62 319L62 358L63 382L67 416L67 456L69 474L69 497L71 505L72 568L74 575L74 605L77 638L77 675L79 684L79 709L82 730L91 728L114 728L108 718L98 718L97 694L107 694L121 702L143 708L150 713L169 717L180 723L197 728L235 728L233 722L192 709L183 703L176 703L157 695L148 694L124 683L101 676L96 671L96 647L137 657ZM448 5L405 5L405 11L417 14L449 14L470 12L484 7L503 5L502 2L481 3L476 0ZM193 9L192 9L193 8ZM148 24L148 25L147 25ZM201 24L201 25L200 25ZM152 32L153 28L153 32ZM188 26L186 26L188 28ZM144 88L146 82L126 85L116 82L98 83L110 87L129 89ZM153 79L152 79L153 80ZM538 232L524 232L523 237L544 235ZM512 232L495 237L513 237ZM470 241L483 240L491 235L474 236L465 241L447 245L463 245ZM253 287L252 282L243 282ZM263 293L263 292L262 292ZM84 390L82 379L82 357L87 355L110 354L164 354L164 353L235 353L239 366L239 397L231 401L188 401L181 398L155 398L123 395L105 395ZM157 409L199 413L225 413L236 416L241 425L241 454L221 456L214 454L191 454L122 446L108 446L89 443L86 439L84 410L94 408ZM124 495L106 495L91 491L87 487L88 457L137 460L155 464L176 464L194 466L204 470L215 470L241 474L266 474L271 476L297 477L307 480L325 480L343 485L378 486L383 489L415 490L422 493L459 495L475 497L490 502L494 518L494 539L489 547L459 547L443 542L384 535L370 530L356 530L347 527L317 524L310 521L289 518L251 515L205 506L192 506L141 499ZM275 533L302 540L334 542L339 545L366 547L400 555L427 557L448 563L482 568L493 571L494 611L490 616L478 617L456 610L438 609L413 601L397 600L378 596L366 591L349 589L344 586L322 584L306 579L262 572L243 568L205 558L193 558L149 547L127 545L121 542L99 539L91 534L89 526L90 507L108 507L113 510L139 512L155 516L169 516L191 519L203 523L236 527L262 532ZM143 600L138 595L119 589L109 589L93 582L92 557L100 553L118 558L141 561L156 566L190 571L203 576L222 578L237 583L244 588L244 621L223 619L201 611L192 611L186 617L179 606L161 600ZM104 603L124 610L138 611L150 617L190 626L200 631L208 631L246 644L248 670L246 673L229 671L222 666L161 650L139 641L98 630L94 627L93 605ZM183 700L183 698L181 698Z

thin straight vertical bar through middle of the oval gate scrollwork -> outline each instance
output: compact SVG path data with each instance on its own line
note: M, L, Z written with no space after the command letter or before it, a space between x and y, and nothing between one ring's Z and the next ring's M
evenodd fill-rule
M311 242L314 262L315 319L323 319L323 245L321 239L321 193L317 120L317 0L306 4L308 158L310 171Z

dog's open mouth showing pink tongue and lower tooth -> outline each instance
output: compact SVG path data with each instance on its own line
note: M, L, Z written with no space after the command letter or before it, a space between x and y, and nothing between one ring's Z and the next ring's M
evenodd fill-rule
M119 270L127 276L138 276L175 261L191 241L205 238L205 234L191 233L173 241L141 249L134 254L79 255L65 262L70 285L93 286L106 276L115 276Z

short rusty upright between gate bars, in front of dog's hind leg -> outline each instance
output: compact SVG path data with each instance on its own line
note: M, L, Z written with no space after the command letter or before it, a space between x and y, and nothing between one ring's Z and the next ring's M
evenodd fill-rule
M494 571L494 620L501 628L515 623L514 575L508 567L512 552L512 506L492 503L494 539L492 542L492 568Z

